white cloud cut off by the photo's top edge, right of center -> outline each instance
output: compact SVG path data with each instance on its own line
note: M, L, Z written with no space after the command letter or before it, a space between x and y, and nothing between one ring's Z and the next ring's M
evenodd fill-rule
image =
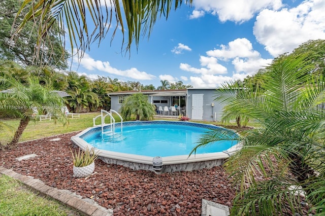
M262 9L278 10L282 7L281 0L197 0L193 1L195 10L203 10L206 13L218 15L221 22L234 21L244 22L250 20L255 13Z

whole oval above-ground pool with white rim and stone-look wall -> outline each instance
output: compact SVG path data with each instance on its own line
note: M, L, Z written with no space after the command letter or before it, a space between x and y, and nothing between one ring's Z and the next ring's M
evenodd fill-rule
M211 129L228 130L209 124L182 121L132 121L96 126L73 136L76 145L99 150L106 163L133 169L171 172L211 168L223 163L237 149L234 140L219 141L199 148L188 157L202 134Z

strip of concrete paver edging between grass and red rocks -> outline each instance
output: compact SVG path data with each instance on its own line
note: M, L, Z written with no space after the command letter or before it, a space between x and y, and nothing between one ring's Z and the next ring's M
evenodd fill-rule
M63 205L67 205L70 208L76 209L82 215L89 216L111 216L113 215L113 209L107 209L100 206L98 203L91 199L82 199L81 196L72 193L67 190L58 190L56 188L49 187L42 183L39 179L34 179L31 176L25 176L18 174L10 169L6 169L0 166L0 173L8 175L17 179L30 189L39 192L43 196L50 197L61 202Z

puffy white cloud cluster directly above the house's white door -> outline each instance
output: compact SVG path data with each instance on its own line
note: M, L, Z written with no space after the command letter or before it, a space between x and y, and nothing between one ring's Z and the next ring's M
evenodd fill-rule
M191 76L191 85L195 87L216 87L230 80L243 80L247 75L253 75L258 69L267 66L272 59L263 59L259 52L253 50L253 46L247 39L236 39L221 45L221 49L207 51L207 56L201 56L200 68L192 67L187 63L181 63L182 70L197 74ZM232 76L222 76L228 70L218 60L225 63L231 61L235 68Z

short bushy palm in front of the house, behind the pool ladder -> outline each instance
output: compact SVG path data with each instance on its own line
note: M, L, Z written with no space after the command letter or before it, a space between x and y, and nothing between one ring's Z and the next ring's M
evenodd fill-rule
M131 120L133 115L136 116L136 120L152 120L156 110L146 95L137 93L125 98L120 113L126 121Z

